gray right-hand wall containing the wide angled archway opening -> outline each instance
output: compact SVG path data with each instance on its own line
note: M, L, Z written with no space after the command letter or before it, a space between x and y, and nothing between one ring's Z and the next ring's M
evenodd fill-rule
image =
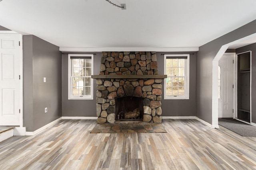
M199 47L196 56L196 116L198 118L212 124L212 60L220 47L253 33L256 33L256 20Z

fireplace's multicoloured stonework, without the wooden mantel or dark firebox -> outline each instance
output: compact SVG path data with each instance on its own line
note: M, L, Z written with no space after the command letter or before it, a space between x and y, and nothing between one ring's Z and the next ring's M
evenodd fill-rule
M157 75L156 52L102 52L100 75ZM142 97L144 122L161 123L161 78L97 78L98 123L114 123L115 99Z

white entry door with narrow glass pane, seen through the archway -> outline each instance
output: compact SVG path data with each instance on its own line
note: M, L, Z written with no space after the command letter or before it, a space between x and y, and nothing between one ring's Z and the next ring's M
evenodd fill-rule
M233 118L233 59L233 54L224 54L219 60L219 118Z

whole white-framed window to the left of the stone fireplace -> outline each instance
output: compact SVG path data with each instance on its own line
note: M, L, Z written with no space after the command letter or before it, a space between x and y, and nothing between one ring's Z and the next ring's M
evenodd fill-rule
M68 55L68 99L93 99L93 55Z

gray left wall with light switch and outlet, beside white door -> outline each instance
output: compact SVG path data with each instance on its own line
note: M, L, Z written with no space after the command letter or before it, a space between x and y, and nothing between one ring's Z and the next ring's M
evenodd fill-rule
M56 45L34 35L23 36L26 131L35 131L62 116L61 58ZM45 107L47 113L44 113Z

